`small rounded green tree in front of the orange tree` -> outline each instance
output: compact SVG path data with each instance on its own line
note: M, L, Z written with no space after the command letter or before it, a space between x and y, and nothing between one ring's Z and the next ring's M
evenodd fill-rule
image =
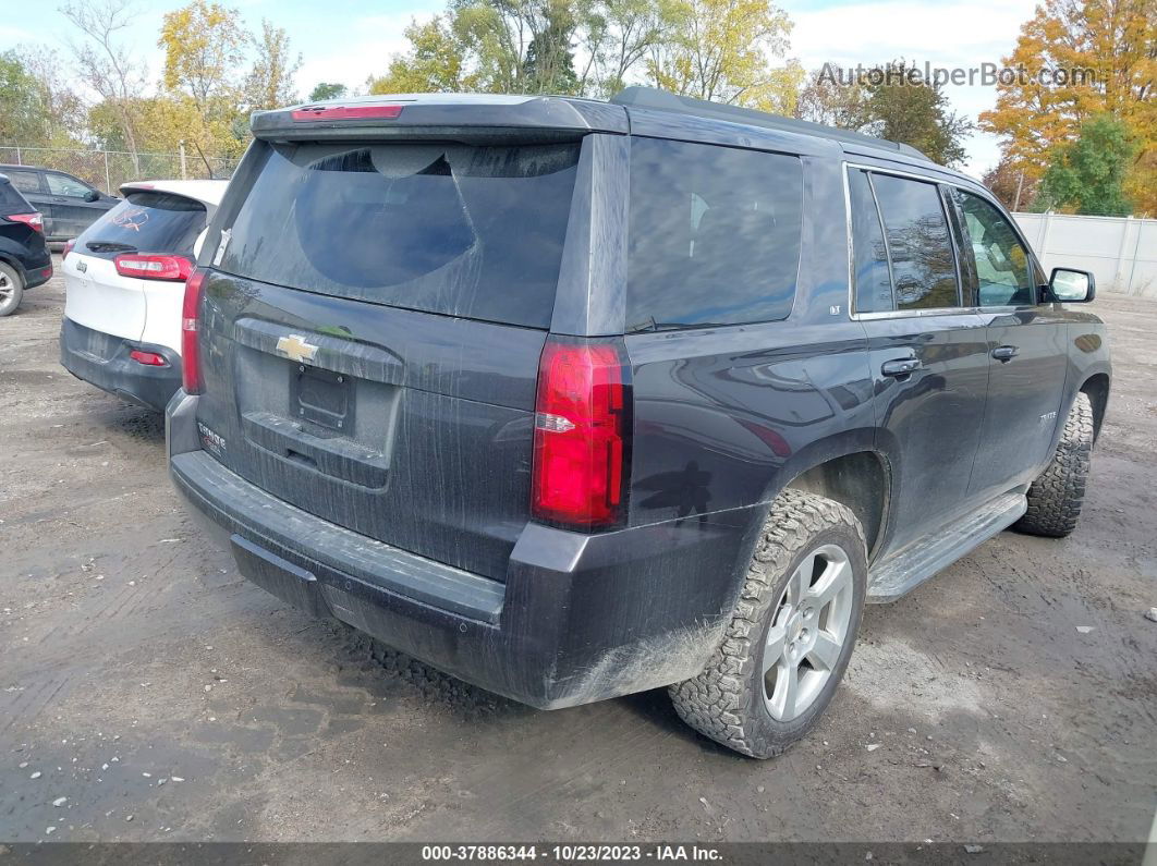
M1137 147L1128 126L1112 114L1095 114L1081 134L1056 150L1040 183L1037 209L1071 209L1095 216L1126 216L1133 202L1125 182Z

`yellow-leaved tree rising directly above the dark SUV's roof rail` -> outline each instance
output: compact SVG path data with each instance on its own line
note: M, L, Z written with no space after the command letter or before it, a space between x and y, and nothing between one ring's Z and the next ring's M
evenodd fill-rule
M791 20L769 0L679 0L673 37L648 61L659 87L700 99L791 113L804 72L773 66L788 50Z

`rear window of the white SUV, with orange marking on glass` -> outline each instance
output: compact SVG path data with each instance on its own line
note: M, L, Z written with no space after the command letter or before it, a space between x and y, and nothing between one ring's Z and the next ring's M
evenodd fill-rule
M131 192L76 238L76 251L109 259L123 252L192 258L205 219L205 206L184 195Z

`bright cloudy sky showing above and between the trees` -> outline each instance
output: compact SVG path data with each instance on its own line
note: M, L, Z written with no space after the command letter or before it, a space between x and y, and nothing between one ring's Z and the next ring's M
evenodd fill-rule
M17 0L3 0L15 6ZM896 58L934 67L972 68L1000 64L1011 53L1020 24L1033 14L1037 0L781 0L795 22L788 57L811 69L831 61L843 67L870 66ZM319 81L362 87L370 74L381 74L390 57L404 51L403 30L412 18L428 20L444 8L444 0L226 0L239 9L250 29L267 17L289 35L302 53L297 74L300 91L308 94ZM42 44L67 57L72 25L58 12L60 2L20 3L19 16L0 21L0 51ZM161 16L183 0L139 0L141 10L125 39L138 49L156 72L161 53L156 34ZM324 12L319 12L319 9ZM975 86L945 86L952 108L971 120L992 108L995 90ZM980 176L995 165L995 136L973 133L966 143L965 170Z

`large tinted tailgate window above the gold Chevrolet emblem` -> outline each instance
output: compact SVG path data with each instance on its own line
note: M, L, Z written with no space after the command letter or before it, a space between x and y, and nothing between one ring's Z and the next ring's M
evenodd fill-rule
M220 268L545 328L578 145L271 145Z

